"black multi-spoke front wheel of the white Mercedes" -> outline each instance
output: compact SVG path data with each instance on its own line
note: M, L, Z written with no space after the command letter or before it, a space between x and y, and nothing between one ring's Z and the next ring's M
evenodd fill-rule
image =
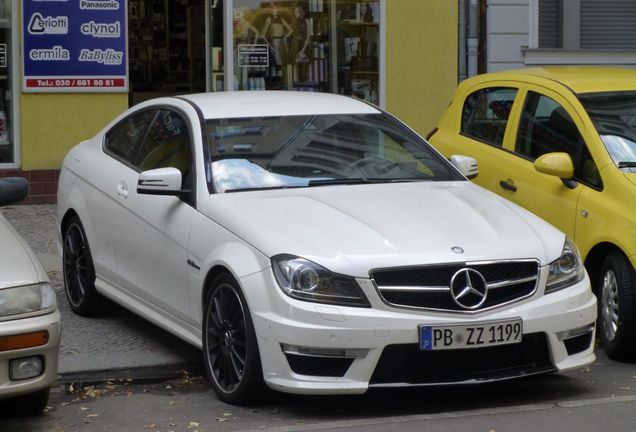
M219 399L253 402L265 384L254 324L245 297L229 274L217 276L203 309L205 372Z

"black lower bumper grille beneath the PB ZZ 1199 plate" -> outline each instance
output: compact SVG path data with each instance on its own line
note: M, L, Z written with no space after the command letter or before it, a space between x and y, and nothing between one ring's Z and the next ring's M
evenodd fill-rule
M490 381L555 370L545 335L523 335L520 343L486 348L420 351L417 344L388 345L371 377L373 386Z

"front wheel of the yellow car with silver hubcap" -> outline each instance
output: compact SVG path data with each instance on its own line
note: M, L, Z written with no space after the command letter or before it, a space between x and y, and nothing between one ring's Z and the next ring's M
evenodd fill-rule
M619 252L603 262L598 283L599 333L608 357L629 361L636 357L636 275Z

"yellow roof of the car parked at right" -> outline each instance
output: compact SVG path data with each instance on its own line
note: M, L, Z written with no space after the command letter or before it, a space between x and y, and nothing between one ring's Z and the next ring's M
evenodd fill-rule
M636 90L636 69L605 66L546 66L493 72L493 78L520 79L534 76L559 82L575 93Z

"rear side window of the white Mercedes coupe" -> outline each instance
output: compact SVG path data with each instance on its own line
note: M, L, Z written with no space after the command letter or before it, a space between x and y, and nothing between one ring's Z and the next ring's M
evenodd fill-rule
M106 134L104 149L132 164L137 147L148 130L155 113L155 110L142 111L117 124Z

